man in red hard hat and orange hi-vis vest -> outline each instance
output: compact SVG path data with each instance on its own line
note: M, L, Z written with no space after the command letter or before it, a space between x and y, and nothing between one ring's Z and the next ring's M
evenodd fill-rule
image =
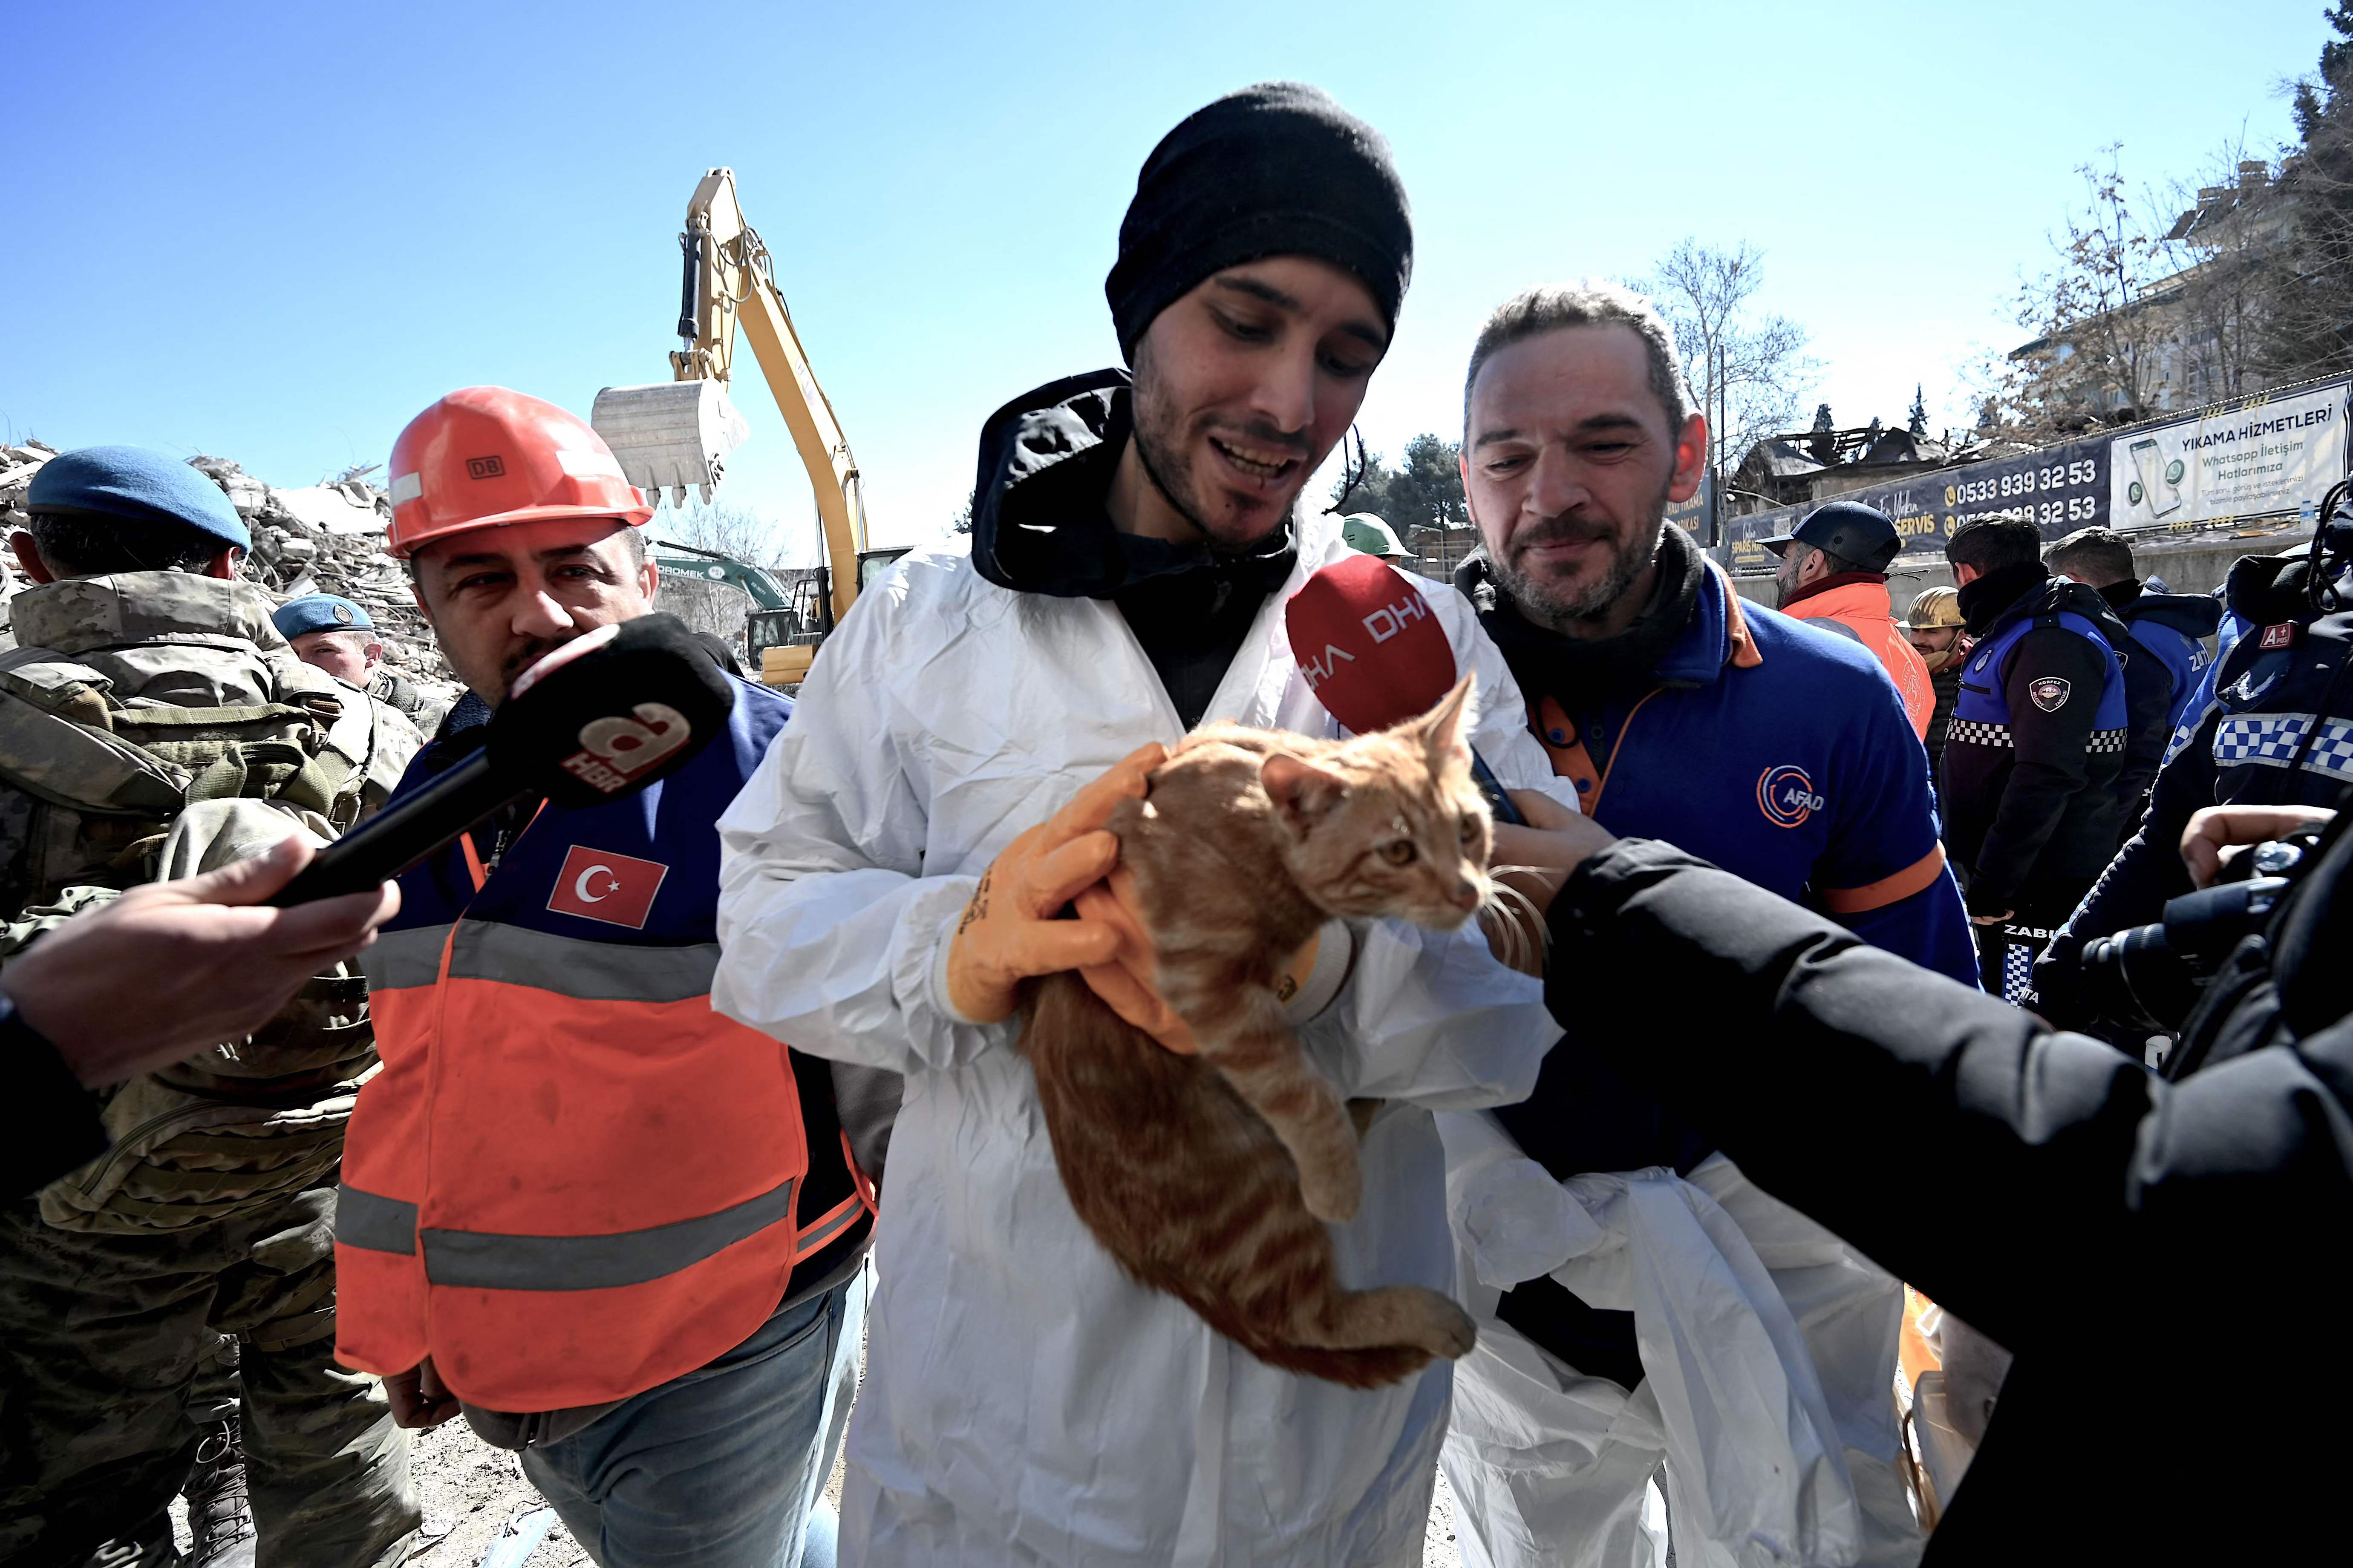
M656 578L652 508L536 397L442 397L391 484L388 548L468 686L407 795ZM788 715L739 684L727 733L642 792L504 809L400 877L362 959L384 1072L344 1150L339 1359L402 1425L464 1410L520 1448L600 1568L793 1568L812 1514L833 1561L896 1079L711 1011L713 823Z

